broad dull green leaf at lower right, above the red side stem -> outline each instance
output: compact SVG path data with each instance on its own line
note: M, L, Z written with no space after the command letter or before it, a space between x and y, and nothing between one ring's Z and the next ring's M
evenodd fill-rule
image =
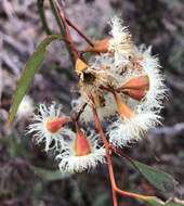
M144 178L146 178L146 180L160 192L174 191L176 182L170 175L144 165L137 160L132 159L131 163L144 176Z

